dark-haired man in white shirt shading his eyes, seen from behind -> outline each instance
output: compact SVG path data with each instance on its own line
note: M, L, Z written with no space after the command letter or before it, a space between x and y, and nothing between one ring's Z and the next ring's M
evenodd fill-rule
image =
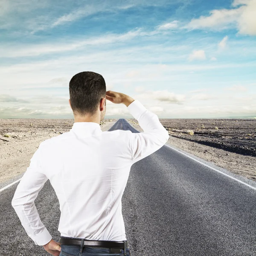
M161 148L168 131L138 100L106 92L104 78L81 72L69 84L74 124L69 132L40 143L17 186L12 207L36 245L59 255L130 256L121 199L131 166ZM143 133L104 131L106 99L126 105ZM41 222L34 201L47 180L58 197L60 242Z

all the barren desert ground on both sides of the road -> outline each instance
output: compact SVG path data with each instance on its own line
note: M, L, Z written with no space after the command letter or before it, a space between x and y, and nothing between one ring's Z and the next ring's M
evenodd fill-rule
M126 119L143 132L136 119ZM104 119L107 131L117 119ZM70 131L73 119L0 119L0 186L20 177L39 144ZM160 119L169 143L256 180L256 119ZM217 128L216 128L217 127Z

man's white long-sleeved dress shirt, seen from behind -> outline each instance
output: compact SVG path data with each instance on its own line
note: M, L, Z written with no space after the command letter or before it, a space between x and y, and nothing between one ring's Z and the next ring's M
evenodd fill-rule
M70 131L40 143L12 199L36 245L52 239L34 204L48 179L60 204L61 236L127 240L121 199L131 166L169 139L158 116L138 100L127 108L144 132L102 131L96 122L74 122Z

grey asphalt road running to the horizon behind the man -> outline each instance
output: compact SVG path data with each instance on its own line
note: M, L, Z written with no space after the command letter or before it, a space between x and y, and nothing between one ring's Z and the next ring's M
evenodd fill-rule
M125 119L109 131L116 129L138 132ZM0 192L0 256L48 256L12 208L17 184ZM58 241L59 203L49 180L35 205ZM131 256L256 256L256 190L167 145L131 166L122 214Z

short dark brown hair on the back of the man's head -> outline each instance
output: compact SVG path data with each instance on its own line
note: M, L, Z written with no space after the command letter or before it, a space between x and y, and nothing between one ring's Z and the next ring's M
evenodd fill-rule
M74 115L94 115L99 107L100 99L106 97L106 83L102 75L84 71L72 77L69 92Z

